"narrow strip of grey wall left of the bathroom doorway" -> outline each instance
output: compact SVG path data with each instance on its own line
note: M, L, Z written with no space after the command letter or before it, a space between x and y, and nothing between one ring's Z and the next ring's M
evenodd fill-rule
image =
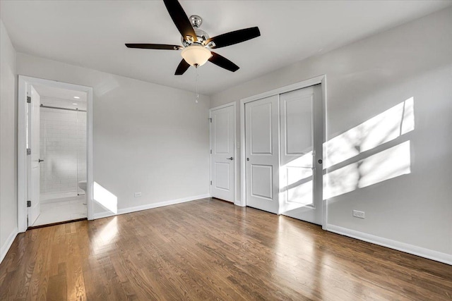
M16 50L0 20L0 262L17 234Z

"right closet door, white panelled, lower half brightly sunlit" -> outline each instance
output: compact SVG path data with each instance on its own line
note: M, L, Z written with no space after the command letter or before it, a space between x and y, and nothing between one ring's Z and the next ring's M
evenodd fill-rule
M280 213L322 223L320 85L280 94Z

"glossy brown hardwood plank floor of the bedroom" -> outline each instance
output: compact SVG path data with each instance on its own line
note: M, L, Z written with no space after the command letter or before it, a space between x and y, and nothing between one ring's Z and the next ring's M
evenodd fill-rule
M215 199L21 233L0 300L451 300L452 266Z

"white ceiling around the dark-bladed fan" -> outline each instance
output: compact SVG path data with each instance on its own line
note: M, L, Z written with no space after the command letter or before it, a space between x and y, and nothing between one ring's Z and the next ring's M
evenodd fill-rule
M200 92L214 94L420 18L452 1L181 1L203 18L210 37L258 26L261 37L216 52L236 63L198 69ZM160 85L195 90L195 70L174 71L180 51L127 49L124 43L180 44L162 1L0 1L1 19L19 52Z

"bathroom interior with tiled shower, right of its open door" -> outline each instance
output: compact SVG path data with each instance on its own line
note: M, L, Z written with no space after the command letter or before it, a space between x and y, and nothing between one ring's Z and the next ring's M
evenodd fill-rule
M28 226L86 219L86 93L32 85L40 99L40 214Z

